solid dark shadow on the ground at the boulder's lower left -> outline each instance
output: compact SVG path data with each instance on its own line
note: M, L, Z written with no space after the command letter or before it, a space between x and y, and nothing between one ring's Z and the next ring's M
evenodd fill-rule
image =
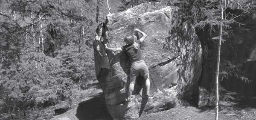
M76 117L79 120L113 120L102 95L79 103Z

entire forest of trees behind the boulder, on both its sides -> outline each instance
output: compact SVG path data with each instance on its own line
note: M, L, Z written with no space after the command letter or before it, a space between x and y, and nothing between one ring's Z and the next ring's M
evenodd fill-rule
M214 91L221 20L218 0L0 0L0 119L24 114L29 114L27 120L49 119L49 111L54 111L49 106L68 101L71 108L84 98L83 90L96 81L92 44L99 23L108 12L151 1L178 6L182 19L195 27L204 58L198 84ZM255 45L255 32L247 27L255 24L256 2L226 1L224 49L247 44L249 51ZM250 84L242 62L222 54L220 80L236 77ZM249 56L247 52L243 57Z

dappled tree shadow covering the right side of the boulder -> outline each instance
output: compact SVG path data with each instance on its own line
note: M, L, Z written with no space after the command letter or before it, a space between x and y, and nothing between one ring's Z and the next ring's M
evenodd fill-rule
M195 106L199 96L198 80L202 71L202 48L192 21L185 20L184 14L180 14L183 14L183 11L174 11L173 17L176 19L172 20L172 24L175 26L169 30L163 49L174 53L176 58L174 57L173 61L179 67L177 70L178 102L181 105Z

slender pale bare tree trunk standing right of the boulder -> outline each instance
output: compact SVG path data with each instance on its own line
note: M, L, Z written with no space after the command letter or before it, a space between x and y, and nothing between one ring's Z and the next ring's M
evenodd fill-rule
M219 75L219 69L220 69L220 57L221 57L221 40L222 40L222 24L223 24L223 12L224 12L224 9L223 9L223 6L222 6L222 3L224 3L224 1L222 0L221 1L221 24L220 24L220 35L219 35L219 44L218 44L218 60L217 60L217 69L216 69L216 106L215 106L215 120L218 120L218 100L219 100L219 97L218 97L218 75Z

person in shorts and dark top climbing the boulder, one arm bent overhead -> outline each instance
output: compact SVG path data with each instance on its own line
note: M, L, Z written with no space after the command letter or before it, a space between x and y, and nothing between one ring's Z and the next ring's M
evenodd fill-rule
M148 67L145 64L143 60L143 54L142 50L140 48L140 43L145 40L147 35L140 31L139 29L135 29L134 31L140 32L143 36L140 38L140 40L135 41L133 35L127 35L124 38L124 41L126 43L125 46L122 46L120 48L108 48L108 46L105 44L105 49L109 51L125 51L128 54L129 60L131 61L131 69L130 69L130 86L128 91L128 98L125 99L126 102L131 102L131 94L134 91L134 84L136 77L139 76L139 74L143 75L146 86L146 97L148 98L150 96L149 94L149 88L150 88L150 81L149 81L149 73L148 73Z

